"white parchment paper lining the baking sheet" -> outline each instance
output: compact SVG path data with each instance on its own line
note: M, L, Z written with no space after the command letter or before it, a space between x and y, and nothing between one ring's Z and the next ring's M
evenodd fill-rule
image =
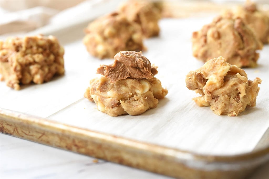
M269 126L269 47L264 46L261 51L257 68L244 69L249 79L258 76L263 80L257 107L249 108L238 117L218 116L208 107L198 107L191 100L195 92L185 85L185 75L203 65L192 57L190 37L192 31L199 30L211 19L163 19L160 36L145 41L148 51L143 54L159 66L156 77L167 87L168 95L160 100L157 108L142 115L111 117L83 98L89 80L99 76L95 74L99 65L113 60L98 60L87 53L82 44L81 27L54 34L65 42L65 76L42 85L29 85L20 91L1 82L0 107L201 154L233 155L252 151ZM72 41L65 41L66 35L72 36Z

